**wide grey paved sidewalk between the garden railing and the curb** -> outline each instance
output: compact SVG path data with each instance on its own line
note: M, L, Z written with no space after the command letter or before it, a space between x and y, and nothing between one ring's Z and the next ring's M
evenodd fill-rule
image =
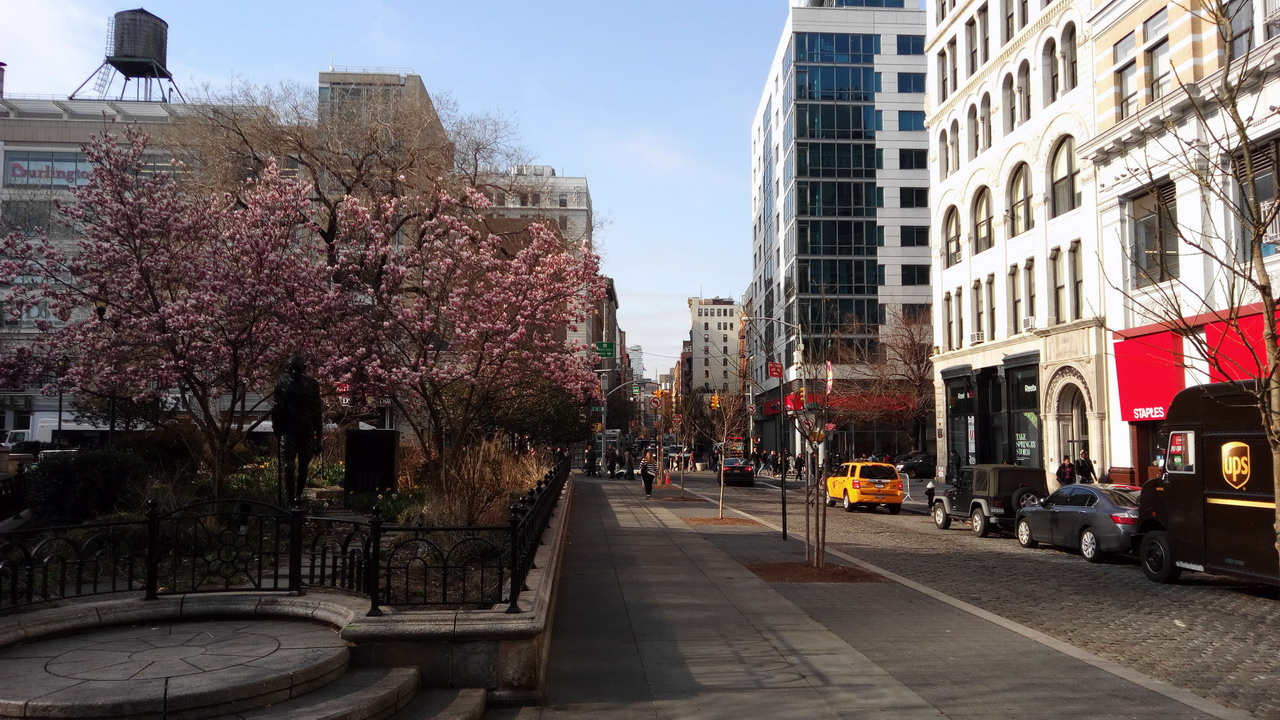
M1242 716L890 578L767 583L744 564L803 543L690 524L716 507L664 501L678 489L573 492L547 702L486 717Z

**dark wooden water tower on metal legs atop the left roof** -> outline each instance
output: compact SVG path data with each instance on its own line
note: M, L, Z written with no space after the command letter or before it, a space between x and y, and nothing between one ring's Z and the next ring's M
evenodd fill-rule
M106 38L106 59L81 83L72 100L93 82L92 95L99 100L108 99L109 88L119 74L124 78L120 95L124 100L129 81L134 82L133 100L159 100L168 102L170 96L182 92L173 82L173 74L166 67L169 58L169 23L142 8L122 10L111 18ZM183 99L184 100L184 99Z

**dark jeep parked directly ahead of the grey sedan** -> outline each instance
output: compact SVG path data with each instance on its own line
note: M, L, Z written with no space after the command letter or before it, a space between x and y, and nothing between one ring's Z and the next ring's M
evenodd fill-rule
M1021 465L973 465L940 488L933 501L933 524L940 530L951 520L969 520L975 536L984 538L992 525L1011 530L1018 510L1048 496L1044 470Z

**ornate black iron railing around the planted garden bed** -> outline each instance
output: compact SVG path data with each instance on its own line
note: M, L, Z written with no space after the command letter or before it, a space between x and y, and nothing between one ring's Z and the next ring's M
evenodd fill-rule
M383 606L517 612L543 530L559 502L559 462L511 507L504 527L388 525L223 500L124 523L0 533L0 612L72 597L143 591L303 593L328 588Z

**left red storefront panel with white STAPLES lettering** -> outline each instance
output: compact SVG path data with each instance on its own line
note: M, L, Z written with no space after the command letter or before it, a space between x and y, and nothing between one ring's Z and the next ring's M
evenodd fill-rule
M1187 387L1183 337L1165 331L1115 343L1120 419L1164 420L1169 402Z

